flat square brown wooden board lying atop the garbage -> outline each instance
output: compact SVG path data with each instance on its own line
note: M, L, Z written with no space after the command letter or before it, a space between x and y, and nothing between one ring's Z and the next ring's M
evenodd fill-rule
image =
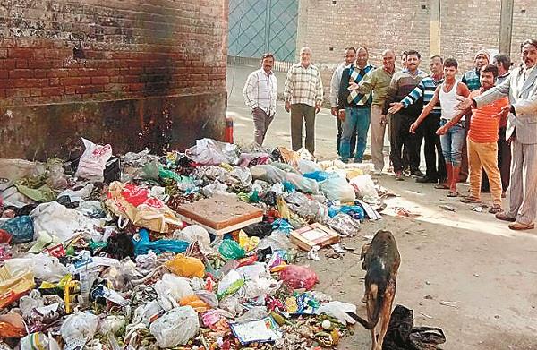
M261 209L226 195L183 204L175 212L187 223L203 226L215 235L223 235L263 219Z

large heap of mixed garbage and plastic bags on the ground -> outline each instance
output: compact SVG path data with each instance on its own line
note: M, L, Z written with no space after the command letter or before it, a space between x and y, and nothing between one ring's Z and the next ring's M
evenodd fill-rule
M348 303L296 264L379 218L368 166L203 139L0 159L0 347L310 349Z

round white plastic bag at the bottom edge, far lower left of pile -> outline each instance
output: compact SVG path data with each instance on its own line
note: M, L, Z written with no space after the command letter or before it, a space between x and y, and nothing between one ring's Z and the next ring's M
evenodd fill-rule
M98 317L90 312L69 315L60 329L66 350L83 348L97 332Z

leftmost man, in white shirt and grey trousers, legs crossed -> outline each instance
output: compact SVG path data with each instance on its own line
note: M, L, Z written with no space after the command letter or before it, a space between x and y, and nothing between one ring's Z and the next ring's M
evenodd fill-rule
M244 84L243 95L246 106L251 108L253 118L253 138L263 145L268 126L276 115L277 79L272 72L274 56L261 56L261 68L250 73Z

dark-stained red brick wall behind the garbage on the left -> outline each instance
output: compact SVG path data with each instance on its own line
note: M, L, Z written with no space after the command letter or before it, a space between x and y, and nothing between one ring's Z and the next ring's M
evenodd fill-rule
M36 128L18 135L4 128L14 145L0 157L64 154L67 146L54 145L64 132L55 132L58 127L71 131L72 143L85 136L112 142L119 151L163 146L147 140L157 137L147 132L155 125L172 147L221 137L227 17L227 0L0 2L0 120ZM57 104L64 106L52 107ZM65 115L52 115L58 111ZM107 123L104 115L115 113L131 130ZM95 132L86 134L92 132L84 126L89 117L100 119L104 132L92 121ZM47 127L58 118L63 125ZM39 129L51 134L37 135ZM42 144L34 149L17 147L36 137Z

